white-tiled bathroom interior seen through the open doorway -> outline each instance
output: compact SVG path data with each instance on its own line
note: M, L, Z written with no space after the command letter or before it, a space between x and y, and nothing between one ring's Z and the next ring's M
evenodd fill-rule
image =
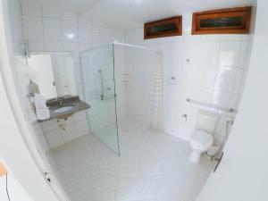
M256 1L164 2L7 1L25 119L66 200L194 201L217 170Z

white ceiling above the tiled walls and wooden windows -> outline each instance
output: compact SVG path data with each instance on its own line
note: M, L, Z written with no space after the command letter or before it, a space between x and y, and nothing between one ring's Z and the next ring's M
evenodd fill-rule
M255 4L256 0L26 0L52 4L94 21L137 27L182 13Z

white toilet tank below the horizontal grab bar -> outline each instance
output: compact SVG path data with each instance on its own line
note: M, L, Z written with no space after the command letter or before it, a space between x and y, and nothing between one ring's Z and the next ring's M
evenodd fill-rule
M204 110L198 111L196 130L204 130L205 132L213 134L219 121L219 117L218 113Z

